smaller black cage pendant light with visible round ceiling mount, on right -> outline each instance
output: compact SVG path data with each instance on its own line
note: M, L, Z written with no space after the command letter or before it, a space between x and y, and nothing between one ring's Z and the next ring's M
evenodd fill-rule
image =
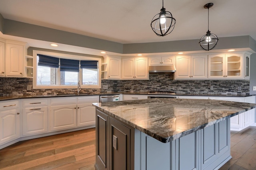
M208 31L206 32L206 35L202 36L202 38L200 39L200 47L203 50L211 50L214 49L214 47L216 47L217 42L219 41L218 37L211 33L211 31L209 31L209 8L211 8L213 6L213 3L208 3L206 5L204 5L205 9L208 9Z

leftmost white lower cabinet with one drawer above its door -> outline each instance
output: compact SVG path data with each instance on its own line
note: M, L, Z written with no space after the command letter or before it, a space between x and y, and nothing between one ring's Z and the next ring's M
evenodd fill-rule
M20 137L19 101L0 103L0 144Z

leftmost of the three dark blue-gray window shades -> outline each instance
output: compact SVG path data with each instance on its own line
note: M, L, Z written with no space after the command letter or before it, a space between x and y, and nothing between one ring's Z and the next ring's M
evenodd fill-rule
M38 54L38 66L59 68L59 58Z

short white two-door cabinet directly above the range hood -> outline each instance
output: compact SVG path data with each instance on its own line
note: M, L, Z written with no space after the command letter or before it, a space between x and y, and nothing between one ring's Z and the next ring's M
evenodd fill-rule
M149 57L148 58L148 65L149 66L175 65L175 56Z

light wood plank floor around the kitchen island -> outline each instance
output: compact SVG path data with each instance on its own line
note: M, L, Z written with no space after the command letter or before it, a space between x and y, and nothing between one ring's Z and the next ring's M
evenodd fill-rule
M231 132L220 170L256 170L256 127ZM95 128L21 141L0 150L1 170L95 170Z

